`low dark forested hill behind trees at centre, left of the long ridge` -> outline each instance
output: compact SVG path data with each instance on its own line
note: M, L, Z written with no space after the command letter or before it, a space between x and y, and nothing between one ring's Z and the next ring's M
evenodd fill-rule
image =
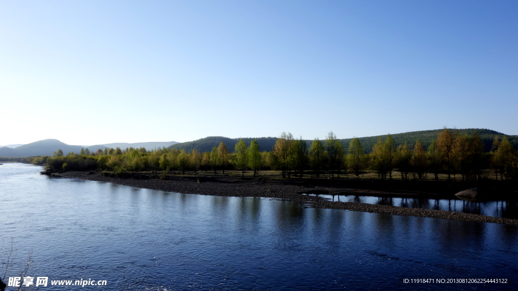
M243 138L243 141L247 143L247 146L250 146L250 142L252 140L257 140L259 143L259 148L261 151L271 151L272 147L275 145L276 138L275 137L258 137L258 138ZM220 142L223 141L228 148L229 152L233 152L236 147L236 143L239 141L239 138L228 138L222 136L209 136L206 138L198 139L195 141L181 142L177 144L173 144L168 149L178 149L185 150L185 152L192 152L193 149L196 149L198 152L210 152L212 147L218 147Z

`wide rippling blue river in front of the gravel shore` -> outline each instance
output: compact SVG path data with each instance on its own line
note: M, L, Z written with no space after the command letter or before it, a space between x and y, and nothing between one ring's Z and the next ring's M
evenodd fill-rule
M0 166L0 234L40 290L513 290L516 226L49 179ZM506 278L508 284L404 284ZM50 280L107 280L50 286ZM516 278L518 279L518 278ZM518 283L518 282L516 282ZM7 290L12 289L8 287Z

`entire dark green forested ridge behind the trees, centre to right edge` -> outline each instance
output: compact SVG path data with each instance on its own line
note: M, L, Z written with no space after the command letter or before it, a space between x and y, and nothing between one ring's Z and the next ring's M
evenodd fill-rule
M409 133L401 133L401 134L393 134L392 137L396 142L396 146L399 144L404 144L405 141L412 147L415 144L416 140L420 140L423 143L425 149L428 148L431 141L437 139L437 135L442 132L443 129L434 129L434 130L422 130L420 132L409 132ZM480 129L480 128L467 128L467 129L457 129L459 135L468 134L471 135L475 130L480 135L480 138L485 144L485 151L491 151L491 145L493 144L493 139L496 135L500 136L500 140L503 136L507 136L509 141L513 144L514 148L518 149L518 136L510 136L505 135L495 130L491 129ZM386 135L382 136L370 136L370 137L360 137L359 141L362 143L362 147L366 153L370 153L372 151L372 147L376 142L378 142L379 138L383 140L386 138ZM262 138L243 138L244 142L250 146L250 141L253 139L257 139L257 142L260 145L261 151L271 151L272 147L275 145L276 138L275 137L262 137ZM349 143L352 138L347 139L339 139L342 143L344 149L349 148ZM198 139L195 141L182 142L174 144L170 146L169 149L178 149L185 150L185 152L192 152L193 149L196 149L199 152L210 152L213 146L218 146L220 142L223 141L229 152L233 152L236 146L236 143L239 141L238 138L228 138L222 136L210 136L202 139ZM308 148L311 145L312 140L306 140L308 144Z

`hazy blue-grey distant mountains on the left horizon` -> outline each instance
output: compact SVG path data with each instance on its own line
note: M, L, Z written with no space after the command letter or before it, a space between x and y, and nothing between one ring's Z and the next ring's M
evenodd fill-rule
M57 139L44 139L39 140L27 144L23 144L20 147L17 147L15 149L8 148L8 147L2 147L0 148L0 156L5 157L24 157L24 156L41 156L41 155L47 155L51 156L53 152L61 149L63 153L66 155L69 152L79 153L81 148L89 149L90 151L96 151L97 149L104 150L106 147L108 148L141 148L145 147L146 150L151 150L156 148L162 148L162 147L168 147L171 144L177 143L176 141L169 141L169 142L137 142L137 143L108 143L106 145L104 144L97 144L95 146L71 146L69 144L66 144L64 142L61 142Z

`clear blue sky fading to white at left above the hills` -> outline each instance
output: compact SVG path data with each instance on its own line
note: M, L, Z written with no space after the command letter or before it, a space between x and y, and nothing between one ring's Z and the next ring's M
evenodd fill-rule
M517 1L0 0L0 144L518 135Z

